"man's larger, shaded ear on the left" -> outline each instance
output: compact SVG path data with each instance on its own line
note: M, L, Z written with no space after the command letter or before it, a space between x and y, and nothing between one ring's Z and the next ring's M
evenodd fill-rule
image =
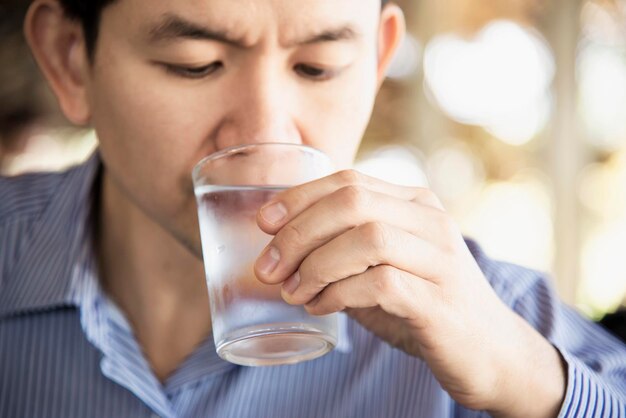
M70 19L58 1L35 0L26 14L24 35L65 116L74 124L87 124L90 64L80 23Z

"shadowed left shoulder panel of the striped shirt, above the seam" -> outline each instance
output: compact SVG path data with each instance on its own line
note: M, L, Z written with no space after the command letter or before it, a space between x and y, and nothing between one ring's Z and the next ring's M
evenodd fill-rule
M99 167L0 177L0 317L63 300Z

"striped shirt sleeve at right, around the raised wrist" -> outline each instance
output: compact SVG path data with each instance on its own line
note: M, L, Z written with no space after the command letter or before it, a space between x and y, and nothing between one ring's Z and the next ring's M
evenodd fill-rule
M488 260L468 243L501 299L561 353L567 389L559 418L626 418L626 345L562 303L548 278Z

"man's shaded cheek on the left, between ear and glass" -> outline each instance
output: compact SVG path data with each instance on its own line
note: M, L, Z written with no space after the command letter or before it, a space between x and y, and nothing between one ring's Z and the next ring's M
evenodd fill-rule
M112 63L114 65L114 63ZM93 125L107 170L125 194L160 223L194 216L191 169L211 152L209 115L154 69L113 65L94 79ZM121 66L118 66L118 68ZM173 221L175 220L175 221Z

